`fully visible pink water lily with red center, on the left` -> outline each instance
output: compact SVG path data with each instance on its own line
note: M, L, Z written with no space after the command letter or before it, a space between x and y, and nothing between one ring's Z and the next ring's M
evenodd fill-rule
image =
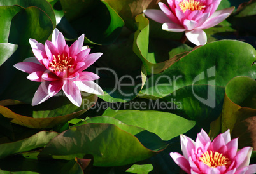
M15 64L18 70L29 73L27 79L41 82L32 99L32 105L38 105L53 97L62 89L69 100L80 106L80 91L103 94L103 90L94 80L97 74L83 71L101 57L102 53L90 53L90 48L83 47L84 34L70 47L58 29L53 30L52 41L45 45L29 39L35 57L30 57Z

